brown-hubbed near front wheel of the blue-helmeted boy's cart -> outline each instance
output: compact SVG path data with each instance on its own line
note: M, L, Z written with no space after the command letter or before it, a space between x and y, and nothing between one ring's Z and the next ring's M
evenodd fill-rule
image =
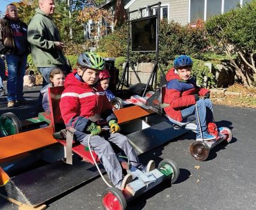
M190 146L190 154L195 160L204 161L209 156L210 149L203 141L195 141Z

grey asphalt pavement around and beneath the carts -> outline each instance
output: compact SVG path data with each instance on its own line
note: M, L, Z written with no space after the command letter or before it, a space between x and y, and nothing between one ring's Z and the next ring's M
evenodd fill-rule
M33 88L31 90L33 91ZM33 100L33 105L36 104L35 95L38 93L25 94ZM0 106L3 107L1 103L2 101ZM1 113L6 110L7 108L0 108ZM23 119L33 115L33 112L30 112L32 107L9 110ZM215 105L214 117L218 125L225 125L233 131L232 142L227 146L212 149L209 158L203 162L193 160L189 154L189 146L195 139L194 133L187 133L148 152L141 161L154 159L159 163L163 158L172 158L179 165L180 177L172 186L161 184L132 201L127 209L256 209L256 109ZM196 169L198 166L200 168ZM105 189L103 181L96 179L63 197L51 200L47 209L103 209L101 194ZM18 208L0 199L0 209Z

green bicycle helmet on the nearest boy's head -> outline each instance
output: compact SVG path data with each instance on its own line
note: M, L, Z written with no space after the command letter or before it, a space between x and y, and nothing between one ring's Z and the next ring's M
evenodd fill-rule
M77 59L77 64L82 68L92 68L94 70L104 70L105 61L96 52L84 52Z

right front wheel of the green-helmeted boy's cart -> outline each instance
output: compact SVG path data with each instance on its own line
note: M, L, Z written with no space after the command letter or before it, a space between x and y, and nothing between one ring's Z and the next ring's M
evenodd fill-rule
M164 159L159 164L157 169L163 173L165 176L170 177L171 184L175 183L177 181L179 175L180 175L180 169L177 165L177 163L174 160L171 159Z

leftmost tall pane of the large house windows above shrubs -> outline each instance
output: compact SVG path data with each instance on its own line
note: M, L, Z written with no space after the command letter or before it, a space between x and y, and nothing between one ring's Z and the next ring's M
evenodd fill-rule
M204 20L204 1L205 0L191 0L190 6L190 22L196 20Z

